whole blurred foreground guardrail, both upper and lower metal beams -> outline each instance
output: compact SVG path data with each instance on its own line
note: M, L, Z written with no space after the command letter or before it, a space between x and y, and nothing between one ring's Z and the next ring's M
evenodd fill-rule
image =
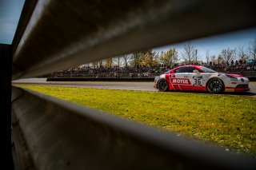
M26 1L22 15L27 16L20 20L14 54L8 54L13 58L13 80L256 26L254 0L35 2L29 6ZM31 18L26 11L33 11ZM8 61L3 65L10 67ZM7 77L3 80L10 84ZM255 168L254 160L154 128L24 89L14 88L12 94L17 169ZM10 102L4 108L1 122L6 121L2 128L8 132ZM8 142L8 134L4 137Z

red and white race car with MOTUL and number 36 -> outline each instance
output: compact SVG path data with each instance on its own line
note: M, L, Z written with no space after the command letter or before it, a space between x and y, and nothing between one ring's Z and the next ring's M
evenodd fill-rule
M200 65L178 66L154 78L159 91L208 91L210 93L248 91L249 80L234 73L218 73Z

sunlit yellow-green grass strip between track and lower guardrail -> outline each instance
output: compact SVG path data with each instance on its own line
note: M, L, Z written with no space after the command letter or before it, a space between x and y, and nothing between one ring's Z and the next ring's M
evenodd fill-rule
M20 86L256 157L256 97Z

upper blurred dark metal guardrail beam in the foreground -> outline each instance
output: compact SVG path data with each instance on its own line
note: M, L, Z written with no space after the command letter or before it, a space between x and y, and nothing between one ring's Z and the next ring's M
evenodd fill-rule
M13 79L250 28L255 13L254 0L39 0L14 52Z

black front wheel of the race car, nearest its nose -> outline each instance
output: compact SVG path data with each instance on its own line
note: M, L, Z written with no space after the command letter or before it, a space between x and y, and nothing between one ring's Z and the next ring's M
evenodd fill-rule
M206 84L206 89L210 93L222 93L225 89L224 83L219 78L212 78Z

